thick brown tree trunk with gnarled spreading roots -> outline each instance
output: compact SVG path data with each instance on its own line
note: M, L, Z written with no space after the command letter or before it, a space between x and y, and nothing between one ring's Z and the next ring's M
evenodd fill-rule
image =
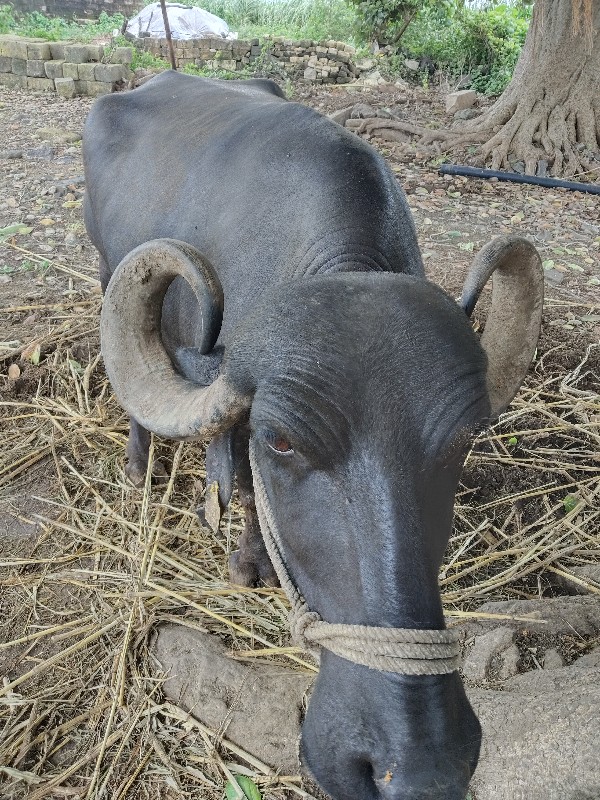
M537 0L511 83L456 134L456 142L485 140L492 169L523 161L526 174L535 175L546 161L553 175L597 178L600 0Z

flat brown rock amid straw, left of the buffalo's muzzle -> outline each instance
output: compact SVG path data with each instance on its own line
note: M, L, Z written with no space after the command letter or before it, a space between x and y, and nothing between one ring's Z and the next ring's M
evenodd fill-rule
M228 658L208 633L161 625L152 646L169 673L163 690L172 702L284 774L298 771L302 707L313 677Z

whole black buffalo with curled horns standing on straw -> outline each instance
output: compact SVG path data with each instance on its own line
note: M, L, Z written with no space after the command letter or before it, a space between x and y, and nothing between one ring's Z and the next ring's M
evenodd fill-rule
M132 480L148 431L212 437L209 479L225 504L236 472L246 510L232 578L274 583L251 440L310 608L444 628L437 574L465 453L536 346L535 249L492 242L457 304L426 280L385 161L269 81L168 72L103 97L84 156ZM468 314L492 272L479 340ZM463 800L479 745L457 672L390 674L323 651L302 754L336 800Z

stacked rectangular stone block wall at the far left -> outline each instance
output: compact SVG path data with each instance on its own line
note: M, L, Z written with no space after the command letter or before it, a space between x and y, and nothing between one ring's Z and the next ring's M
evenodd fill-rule
M108 94L130 78L132 50L115 48L104 63L100 45L0 36L0 84L62 97Z

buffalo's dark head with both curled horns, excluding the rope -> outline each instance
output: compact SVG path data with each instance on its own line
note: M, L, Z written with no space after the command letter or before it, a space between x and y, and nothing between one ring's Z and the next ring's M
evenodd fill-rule
M468 315L492 273L479 339ZM163 346L176 277L202 310L206 386L178 374ZM500 238L477 257L460 305L407 275L303 278L264 291L215 348L216 275L188 245L157 240L117 268L102 347L122 405L162 436L249 420L289 572L323 619L442 629L437 575L462 464L525 375L542 285L533 246ZM336 800L463 800L479 744L457 672L397 675L323 650L302 755Z

